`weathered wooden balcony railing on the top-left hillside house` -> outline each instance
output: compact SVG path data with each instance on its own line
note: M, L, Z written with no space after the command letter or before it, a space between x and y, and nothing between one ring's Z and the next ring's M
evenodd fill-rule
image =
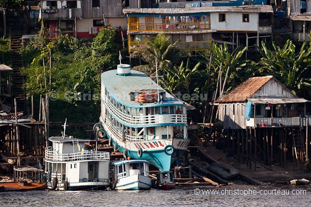
M82 18L82 9L43 9L42 18L44 20L74 20Z

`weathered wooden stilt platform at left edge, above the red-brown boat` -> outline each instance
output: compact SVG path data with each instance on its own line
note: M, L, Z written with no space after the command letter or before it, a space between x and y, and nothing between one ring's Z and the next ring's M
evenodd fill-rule
M38 121L33 118L33 97L31 116L18 112L16 100L14 103L15 113L3 113L0 119L0 162L11 159L16 165L28 165L32 159L43 158L48 145L49 96L40 100Z

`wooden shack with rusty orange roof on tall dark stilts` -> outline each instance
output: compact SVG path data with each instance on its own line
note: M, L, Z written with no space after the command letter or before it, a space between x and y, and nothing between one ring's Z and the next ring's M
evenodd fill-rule
M311 107L274 77L249 78L216 103L224 147L250 168L309 166Z

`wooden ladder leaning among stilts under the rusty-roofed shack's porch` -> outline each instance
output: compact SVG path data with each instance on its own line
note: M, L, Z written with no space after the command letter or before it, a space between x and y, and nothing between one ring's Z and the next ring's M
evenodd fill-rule
M306 153L301 133L301 127L299 127L299 129L292 129L292 140L297 160L297 166L300 169L303 169L306 164Z

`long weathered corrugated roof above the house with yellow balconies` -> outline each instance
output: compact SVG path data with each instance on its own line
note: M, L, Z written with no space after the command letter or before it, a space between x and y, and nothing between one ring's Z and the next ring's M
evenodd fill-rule
M197 8L140 8L123 9L124 14L200 14L211 12L239 13L273 13L270 5L238 6L238 7L197 7Z

